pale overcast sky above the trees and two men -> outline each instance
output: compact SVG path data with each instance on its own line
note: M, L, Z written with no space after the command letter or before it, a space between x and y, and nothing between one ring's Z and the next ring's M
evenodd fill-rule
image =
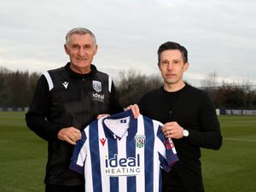
M65 36L77 26L95 33L93 63L113 79L129 69L159 73L156 51L174 41L189 51L189 83L216 72L220 82L256 84L255 0L1 0L0 67L65 65Z

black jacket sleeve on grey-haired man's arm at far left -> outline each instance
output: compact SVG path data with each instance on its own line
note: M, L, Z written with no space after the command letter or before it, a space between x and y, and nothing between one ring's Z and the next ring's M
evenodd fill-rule
M26 113L26 125L39 137L50 141L57 139L61 127L47 120L49 114L49 85L44 75L38 80L30 108Z

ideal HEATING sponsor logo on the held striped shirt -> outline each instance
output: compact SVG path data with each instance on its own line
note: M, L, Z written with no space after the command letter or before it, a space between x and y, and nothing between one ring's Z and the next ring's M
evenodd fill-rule
M105 172L110 177L138 175L141 172L140 155L120 158L118 154L114 154L110 159L106 156Z

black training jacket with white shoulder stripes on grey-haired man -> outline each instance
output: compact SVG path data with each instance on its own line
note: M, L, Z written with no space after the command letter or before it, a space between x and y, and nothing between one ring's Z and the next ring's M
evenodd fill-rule
M69 66L67 63L41 76L26 113L26 125L48 141L44 183L84 183L84 177L68 169L73 145L57 138L61 128L74 126L83 130L98 114L123 111L108 74L93 65L88 74L74 73Z

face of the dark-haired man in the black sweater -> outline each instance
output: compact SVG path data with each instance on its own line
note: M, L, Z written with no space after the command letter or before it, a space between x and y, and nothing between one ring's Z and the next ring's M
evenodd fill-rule
M189 63L183 62L182 53L178 49L164 50L160 55L160 72L165 84L183 83L183 73L188 69Z

